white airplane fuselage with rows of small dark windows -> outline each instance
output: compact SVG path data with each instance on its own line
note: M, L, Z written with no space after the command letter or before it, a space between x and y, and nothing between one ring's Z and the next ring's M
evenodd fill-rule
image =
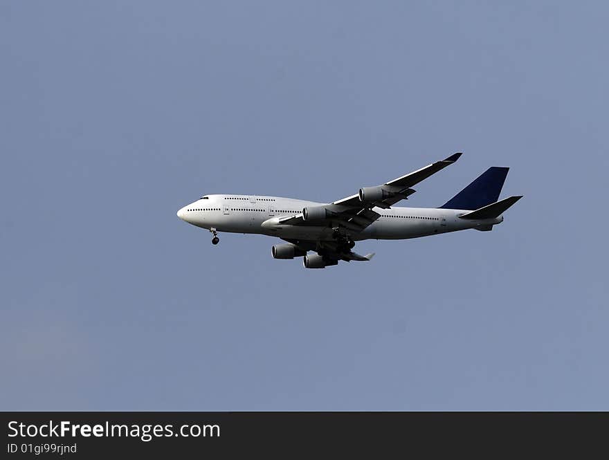
M192 225L218 232L266 234L284 239L331 240L330 226L281 225L282 217L302 214L315 203L280 196L253 196L235 194L206 195L184 206L178 217ZM355 241L363 239L408 239L432 234L455 232L469 228L489 230L503 221L503 217L484 220L460 219L469 210L440 208L373 208L381 217L363 231L353 234Z

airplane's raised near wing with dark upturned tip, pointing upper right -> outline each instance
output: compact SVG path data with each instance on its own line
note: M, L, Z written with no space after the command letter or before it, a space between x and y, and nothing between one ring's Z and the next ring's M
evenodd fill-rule
M444 160L437 161L415 172L401 176L393 181L388 181L376 187L363 187L358 194L347 196L347 198L334 201L327 205L305 208L296 216L283 217L279 223L293 226L319 226L320 221L331 222L337 229L346 232L361 232L381 214L374 212L372 208L391 208L392 205L415 193L412 185L423 181L448 165L452 165L459 159L461 153L456 153Z

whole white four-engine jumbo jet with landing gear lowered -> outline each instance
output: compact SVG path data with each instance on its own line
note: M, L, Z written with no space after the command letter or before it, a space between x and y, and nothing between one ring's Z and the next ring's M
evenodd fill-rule
M503 212L520 196L498 201L508 167L490 167L439 208L395 208L415 193L411 187L455 163L461 152L376 187L332 203L316 203L280 196L210 194L185 205L177 215L213 234L264 234L286 243L271 248L275 259L302 257L305 268L326 268L338 261L370 261L374 253L353 252L356 241L410 239L475 229L493 230ZM309 254L309 252L312 252Z

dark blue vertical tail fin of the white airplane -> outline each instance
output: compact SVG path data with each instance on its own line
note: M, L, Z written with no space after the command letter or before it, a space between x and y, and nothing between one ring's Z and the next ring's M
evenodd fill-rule
M495 203L499 199L508 171L509 167L489 167L440 208L477 210Z

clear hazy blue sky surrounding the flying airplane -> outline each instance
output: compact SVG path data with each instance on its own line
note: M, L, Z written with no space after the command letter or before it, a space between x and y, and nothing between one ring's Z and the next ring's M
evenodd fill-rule
M608 410L605 2L4 1L3 410ZM333 201L455 151L493 232L305 270L202 194Z

